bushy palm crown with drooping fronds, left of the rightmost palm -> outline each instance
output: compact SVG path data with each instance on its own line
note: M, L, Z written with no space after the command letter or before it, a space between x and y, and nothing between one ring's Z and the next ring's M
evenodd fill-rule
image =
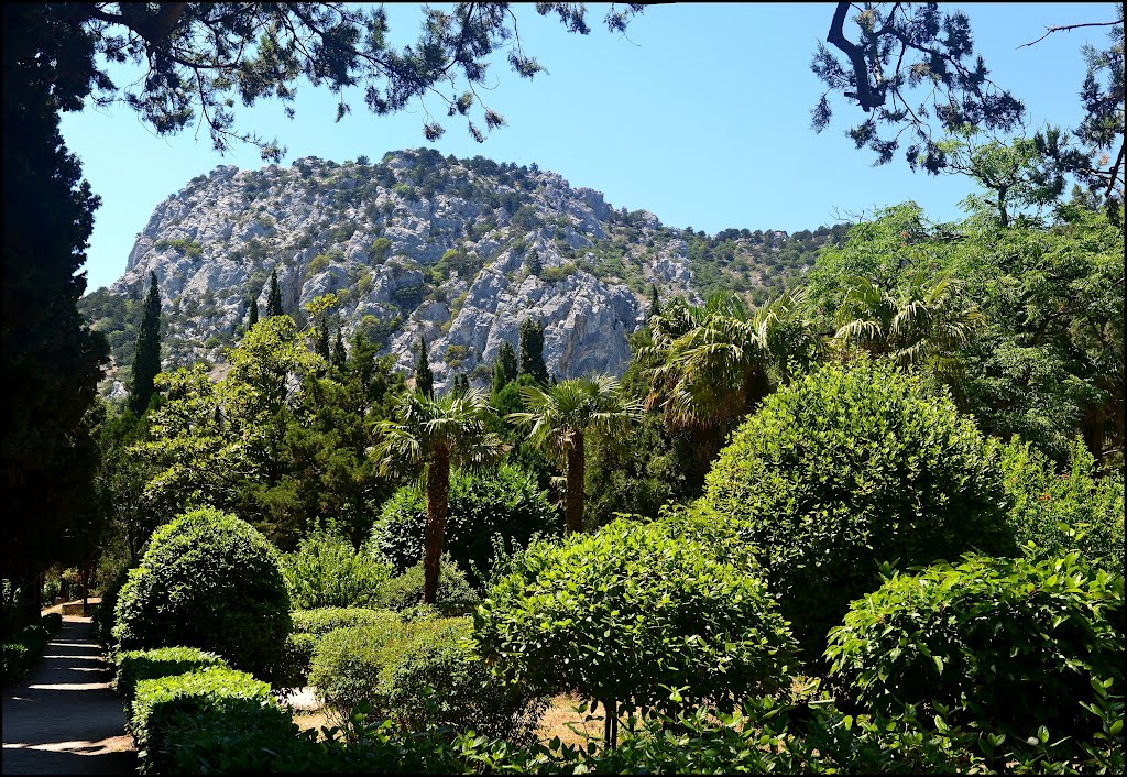
M820 351L805 292L786 292L748 317L736 297L703 307L671 304L650 319L647 409L660 407L672 431L689 430L702 468L733 426Z

